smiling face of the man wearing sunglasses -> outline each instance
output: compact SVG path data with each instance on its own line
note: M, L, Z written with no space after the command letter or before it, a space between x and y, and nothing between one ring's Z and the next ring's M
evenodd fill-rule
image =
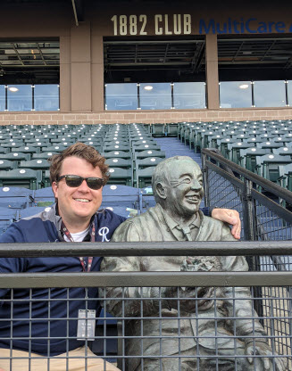
M101 170L94 168L88 161L76 156L67 157L62 164L60 177L79 175L80 177L103 177ZM103 188L94 190L88 187L85 180L78 187L66 185L65 179L53 183L53 191L58 199L59 214L64 224L83 225L99 209L102 203ZM67 224L66 224L67 223Z

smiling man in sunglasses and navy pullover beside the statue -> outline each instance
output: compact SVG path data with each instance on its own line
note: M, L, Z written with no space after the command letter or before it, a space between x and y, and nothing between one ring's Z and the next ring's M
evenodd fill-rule
M104 157L94 147L81 143L73 144L63 153L54 155L51 159L50 180L56 203L49 211L13 223L0 236L0 243L108 241L125 218L111 210L98 210L102 203L103 186L108 180L108 166L104 161ZM234 233L238 234L239 219L235 211L214 211L221 213L221 218L231 219L230 222L235 218ZM2 258L0 272L98 271L101 260L98 257ZM9 359L3 358L12 356L13 371L29 369L28 362L15 357L27 358L31 351L31 356L36 358L31 360L31 370L47 370L44 357L50 357L50 370L84 370L86 355L92 357L88 359L88 370L104 370L104 361L94 357L84 347L85 342L79 340L85 334L79 328L81 319L76 319L86 316L86 309L95 310L91 313L98 316L100 304L97 301L97 288L13 290L13 301L9 301L12 293L8 290L1 290L0 295L4 300L0 307L0 367L9 369ZM38 320L29 322L29 318ZM10 337L13 337L12 342ZM10 348L13 349L12 353ZM66 365L66 359L61 357L70 359L69 366ZM116 367L106 364L106 369L113 370Z

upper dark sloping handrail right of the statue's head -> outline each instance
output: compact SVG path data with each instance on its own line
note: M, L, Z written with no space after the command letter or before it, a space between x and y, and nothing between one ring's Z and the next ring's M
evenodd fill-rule
M262 186L266 191L271 192L272 194L277 195L279 198L287 201L288 203L292 204L292 192L288 191L288 189L281 187L280 185L276 185L271 182L271 180L267 180L264 177L260 177L257 174L254 174L252 171L242 168L237 163L233 161L229 161L225 159L220 154L214 153L210 149L203 148L202 153L209 156L211 159L215 161L221 162L229 167L229 169L237 172L240 175L243 175L247 179L251 180L252 182L256 183L257 185Z

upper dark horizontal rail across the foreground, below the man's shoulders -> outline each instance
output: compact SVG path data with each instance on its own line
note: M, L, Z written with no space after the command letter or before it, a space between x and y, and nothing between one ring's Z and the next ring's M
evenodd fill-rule
M0 258L71 256L292 255L292 241L151 243L0 243Z

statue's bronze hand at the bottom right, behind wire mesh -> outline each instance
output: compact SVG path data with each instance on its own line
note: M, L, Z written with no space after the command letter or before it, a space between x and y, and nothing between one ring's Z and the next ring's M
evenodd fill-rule
M286 371L288 364L287 359L285 358L279 358L279 357L272 357L275 355L275 352L273 353L271 350L270 345L267 342L257 342L256 340L254 342L249 342L246 344L246 355L259 355L263 356L261 358L261 362L263 364L264 371ZM276 353L277 355L277 353ZM254 363L254 359L252 357L249 357L247 360L252 365ZM275 368L273 368L273 359L275 363Z

